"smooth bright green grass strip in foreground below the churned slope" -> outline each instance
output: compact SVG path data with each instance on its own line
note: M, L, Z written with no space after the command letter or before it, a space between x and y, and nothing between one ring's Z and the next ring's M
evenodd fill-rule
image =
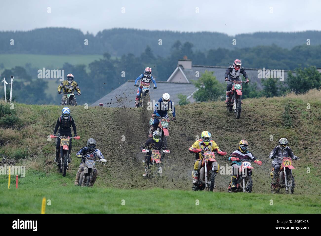
M160 188L84 188L73 186L71 176L63 178L58 173L39 171L28 171L26 177L19 179L18 189L13 178L10 189L7 189L7 178L0 177L0 213L40 213L43 197L51 204L46 205L47 214L321 213L321 199L317 196L210 193Z

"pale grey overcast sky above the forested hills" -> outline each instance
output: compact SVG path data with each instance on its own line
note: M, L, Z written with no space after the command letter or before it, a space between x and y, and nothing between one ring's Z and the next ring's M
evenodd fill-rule
M231 36L293 32L320 30L320 9L317 0L1 0L0 31L68 27L96 34L121 27L216 31Z

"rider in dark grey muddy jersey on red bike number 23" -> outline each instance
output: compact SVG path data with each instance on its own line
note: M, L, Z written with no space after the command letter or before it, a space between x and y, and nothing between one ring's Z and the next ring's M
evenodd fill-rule
M270 153L270 158L272 159L272 166L274 168L273 170L273 178L272 178L272 184L276 184L276 180L278 177L278 173L280 171L280 167L282 164L282 158L281 157L291 157L294 160L299 160L300 158L295 156L291 150L290 147L288 147L288 140L286 138L281 138L279 140L279 145L276 146L272 152ZM280 178L280 186L284 187L285 183L283 182L283 178Z

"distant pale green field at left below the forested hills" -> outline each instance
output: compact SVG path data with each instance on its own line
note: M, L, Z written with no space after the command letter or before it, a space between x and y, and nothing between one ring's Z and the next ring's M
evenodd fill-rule
M84 64L88 65L94 60L103 58L102 55L37 55L37 54L0 54L0 64L4 64L4 68L11 69L15 66L24 67L26 63L30 63L31 67L37 69L58 69L65 62L72 65Z

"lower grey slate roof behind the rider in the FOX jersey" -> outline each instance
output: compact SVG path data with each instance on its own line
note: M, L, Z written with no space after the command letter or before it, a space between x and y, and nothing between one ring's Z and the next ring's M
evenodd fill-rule
M167 92L170 95L170 100L174 105L177 105L179 101L177 95L179 93L188 96L196 90L192 83L170 83L164 81L156 81L156 83L157 89L150 91L151 101L158 101L162 95ZM101 102L104 103L106 107L134 107L137 92L137 87L135 87L134 84L134 80L128 80L126 83L91 104L91 106L98 106ZM151 85L153 86L153 84Z

